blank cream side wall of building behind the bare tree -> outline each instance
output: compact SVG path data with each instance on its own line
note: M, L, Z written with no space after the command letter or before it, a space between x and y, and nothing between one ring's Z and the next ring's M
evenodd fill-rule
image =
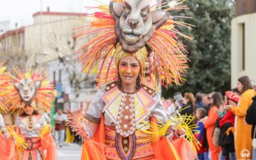
M51 19L51 16L43 15L43 17L44 19L47 19L46 17ZM58 57L63 58L74 54L73 52L76 51L77 47L88 40L86 38L79 40L79 42L76 43L76 48L74 50L72 49L74 42L72 36L77 33L77 31L72 29L86 25L86 22L82 23L78 20L78 17L73 17L73 19L65 17L63 20L59 18L59 20L50 21L51 20L48 20L43 23L42 26L41 24L35 24L25 28L25 50L29 55L28 61L31 62L31 66L35 65L33 64L35 61L38 63L47 63L48 61L58 59ZM42 33L40 33L40 31L42 31ZM67 42L71 42L71 44ZM46 53L47 56L40 54L40 52Z

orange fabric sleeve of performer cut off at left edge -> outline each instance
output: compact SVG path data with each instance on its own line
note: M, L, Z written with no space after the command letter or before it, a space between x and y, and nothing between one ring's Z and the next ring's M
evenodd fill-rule
M13 138L10 137L7 141L2 133L0 133L0 159L15 159L15 143Z

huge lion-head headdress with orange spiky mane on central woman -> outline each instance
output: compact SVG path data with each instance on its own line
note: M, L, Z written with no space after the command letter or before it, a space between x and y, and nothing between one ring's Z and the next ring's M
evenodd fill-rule
M149 68L163 86L184 81L182 74L187 68L186 50L177 35L191 38L182 35L174 26L189 28L189 25L173 20L168 11L186 6L157 10L159 8L157 5L150 6L149 0L113 0L109 9L100 6L101 12L88 15L92 22L79 28L83 31L76 35L76 38L94 36L77 51L83 71L88 74L97 70L100 83L115 80L114 58L122 57L119 54L146 52L147 56L152 54L148 61L154 61L149 63ZM137 60L140 61L140 58L137 57Z

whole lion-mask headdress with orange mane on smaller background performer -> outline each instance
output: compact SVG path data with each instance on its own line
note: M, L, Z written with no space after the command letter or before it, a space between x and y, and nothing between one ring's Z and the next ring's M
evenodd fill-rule
M10 110L18 110L19 113L26 105L40 112L51 110L54 87L49 81L49 75L43 70L26 69L26 72L20 72L19 68L14 68L13 71L16 75L12 76L6 102Z

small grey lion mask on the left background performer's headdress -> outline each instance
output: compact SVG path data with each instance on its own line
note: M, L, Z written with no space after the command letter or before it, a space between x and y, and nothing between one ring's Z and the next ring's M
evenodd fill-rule
M20 82L14 84L15 89L19 92L19 97L22 102L30 105L35 99L36 92L40 88L40 81L32 81L32 79L21 79Z

